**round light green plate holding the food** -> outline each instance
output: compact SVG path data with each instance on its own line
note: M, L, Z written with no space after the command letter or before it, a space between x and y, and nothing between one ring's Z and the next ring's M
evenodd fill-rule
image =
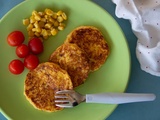
M26 0L8 12L0 21L0 108L8 118L14 120L102 120L107 118L117 105L82 103L72 109L48 113L39 111L23 95L24 79L27 69L21 75L13 75L8 70L11 60L18 58L15 47L7 44L7 35L21 30L26 36L22 19L31 15L33 10L43 11L50 8L63 10L68 15L67 27L55 37L44 42L44 52L39 56L41 62L48 60L50 54L60 46L66 36L76 27L93 25L98 27L111 48L105 64L76 88L86 93L124 92L130 74L130 54L125 37L116 21L102 8L87 0Z

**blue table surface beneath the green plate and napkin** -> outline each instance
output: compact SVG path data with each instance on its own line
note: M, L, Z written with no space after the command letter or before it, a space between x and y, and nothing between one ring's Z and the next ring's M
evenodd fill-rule
M22 1L23 0L0 0L0 18ZM106 120L160 120L160 77L153 76L141 70L135 54L137 38L131 30L130 22L115 16L116 6L111 0L93 0L93 2L112 15L122 28L127 39L131 54L131 75L126 92L154 93L157 96L154 102L118 105ZM6 120L1 113L0 120Z

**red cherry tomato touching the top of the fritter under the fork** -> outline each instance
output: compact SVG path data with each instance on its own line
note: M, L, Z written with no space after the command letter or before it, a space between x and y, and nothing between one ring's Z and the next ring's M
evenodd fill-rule
M24 66L30 70L36 68L39 64L39 59L36 55L30 54L24 59Z

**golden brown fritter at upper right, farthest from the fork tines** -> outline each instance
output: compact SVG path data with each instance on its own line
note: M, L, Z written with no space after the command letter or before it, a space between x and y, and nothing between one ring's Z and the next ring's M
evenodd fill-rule
M110 51L100 30L93 26L74 29L67 36L65 43L75 43L87 53L91 71L99 69L104 64Z

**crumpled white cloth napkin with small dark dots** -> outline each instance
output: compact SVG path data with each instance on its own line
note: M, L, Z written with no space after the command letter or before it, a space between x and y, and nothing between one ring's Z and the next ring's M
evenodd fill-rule
M112 0L116 16L130 20L141 69L160 76L160 0Z

